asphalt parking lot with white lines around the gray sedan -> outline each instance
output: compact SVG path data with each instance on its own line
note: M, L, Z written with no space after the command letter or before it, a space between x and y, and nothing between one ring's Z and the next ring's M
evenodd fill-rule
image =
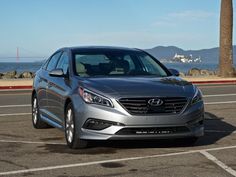
M71 150L64 133L36 130L30 90L0 91L0 176L236 176L236 85L200 85L205 136L93 142Z

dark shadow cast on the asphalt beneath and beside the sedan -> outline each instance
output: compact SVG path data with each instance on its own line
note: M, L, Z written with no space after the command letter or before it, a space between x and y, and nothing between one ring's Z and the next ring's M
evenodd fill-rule
M66 145L45 144L40 145L46 151L69 154L113 154L120 149L139 148L176 148L189 146L205 146L215 144L218 140L227 137L236 130L236 127L224 121L223 117L205 112L205 135L195 143L190 144L186 139L160 139L160 140L127 140L127 141L91 141L86 149L69 149Z

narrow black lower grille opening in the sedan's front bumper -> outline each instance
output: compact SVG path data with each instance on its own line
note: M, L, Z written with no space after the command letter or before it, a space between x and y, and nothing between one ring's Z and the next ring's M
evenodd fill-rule
M165 135L187 133L189 129L184 126L179 127L152 127L152 128L123 128L117 135Z

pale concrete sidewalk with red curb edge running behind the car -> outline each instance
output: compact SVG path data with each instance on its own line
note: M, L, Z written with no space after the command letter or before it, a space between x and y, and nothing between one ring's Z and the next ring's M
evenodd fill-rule
M193 84L236 84L236 77L222 78L217 76L209 77L183 77ZM31 89L33 79L0 79L0 89Z

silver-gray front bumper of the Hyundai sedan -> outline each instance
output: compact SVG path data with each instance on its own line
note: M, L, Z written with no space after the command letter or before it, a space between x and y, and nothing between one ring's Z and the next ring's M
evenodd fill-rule
M80 99L75 98L75 100ZM77 132L86 140L135 140L200 137L204 135L204 104L186 107L180 114L131 115L118 103L114 108L79 102L75 107ZM117 122L103 130L83 128L86 120Z

